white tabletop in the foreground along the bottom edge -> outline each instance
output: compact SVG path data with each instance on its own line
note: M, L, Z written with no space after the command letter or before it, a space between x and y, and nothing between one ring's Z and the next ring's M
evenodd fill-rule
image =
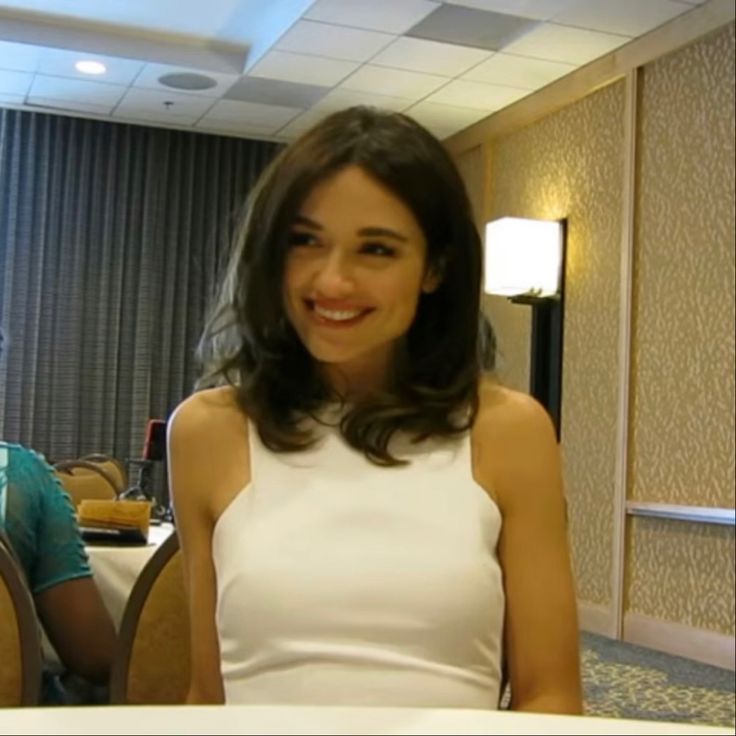
M434 708L100 706L0 710L0 733L23 734L637 734L717 736L732 729Z

